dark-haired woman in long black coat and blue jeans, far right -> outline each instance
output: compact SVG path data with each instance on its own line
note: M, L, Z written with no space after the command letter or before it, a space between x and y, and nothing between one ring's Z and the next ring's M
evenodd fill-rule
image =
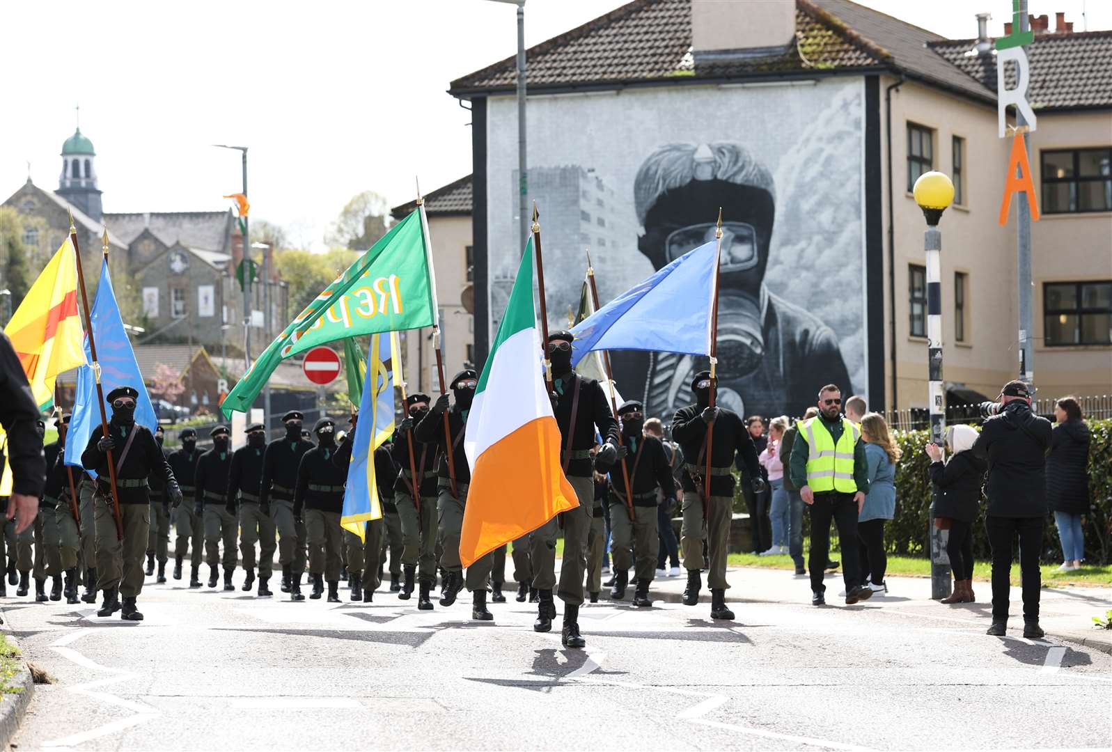
M1046 453L1046 502L1062 540L1063 562L1058 570L1072 572L1085 557L1081 516L1089 512L1089 426L1073 397L1058 400L1054 417L1058 425Z

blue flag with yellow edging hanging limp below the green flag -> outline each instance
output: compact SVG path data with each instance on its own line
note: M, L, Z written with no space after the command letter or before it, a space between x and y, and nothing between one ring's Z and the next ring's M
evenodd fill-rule
M397 347L397 332L371 335L367 353L367 379L359 400L359 420L355 426L351 464L348 466L347 489L340 526L366 541L367 522L383 518L375 481L375 449L394 435L395 363L391 353ZM397 377L398 383L401 377Z

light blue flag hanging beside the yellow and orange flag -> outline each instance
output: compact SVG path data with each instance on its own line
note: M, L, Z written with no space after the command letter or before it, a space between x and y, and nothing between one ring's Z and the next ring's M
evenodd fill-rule
M100 364L100 386L108 393L119 386L130 386L139 392L136 399L136 423L151 431L158 426L155 406L139 373L139 364L131 350L131 340L123 330L123 319L120 308L116 305L116 293L112 289L112 277L108 273L108 259L100 266L100 284L97 286L97 297L89 311L92 320L92 333L97 339L97 360ZM85 337L85 357L92 363L89 350L89 335ZM108 417L111 418L111 406L105 405ZM81 453L89 444L93 429L100 426L100 407L97 405L97 379L92 366L81 366L77 369L77 390L73 394L73 415L70 418L69 432L66 434L66 464L81 465ZM96 473L88 471L96 477Z

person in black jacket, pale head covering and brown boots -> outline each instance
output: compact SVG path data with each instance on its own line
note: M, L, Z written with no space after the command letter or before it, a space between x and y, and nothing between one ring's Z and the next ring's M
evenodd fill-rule
M954 592L942 603L973 603L973 521L981 503L984 483L984 459L972 452L977 433L973 426L956 425L946 428L950 462L942 464L942 447L927 444L931 457L931 482L934 485L935 525L950 527L946 555L954 573Z

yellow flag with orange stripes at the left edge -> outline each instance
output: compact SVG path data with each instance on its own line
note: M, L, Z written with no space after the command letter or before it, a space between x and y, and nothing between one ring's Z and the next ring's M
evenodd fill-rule
M4 328L40 410L53 403L58 374L86 365L77 295L77 256L67 237Z

